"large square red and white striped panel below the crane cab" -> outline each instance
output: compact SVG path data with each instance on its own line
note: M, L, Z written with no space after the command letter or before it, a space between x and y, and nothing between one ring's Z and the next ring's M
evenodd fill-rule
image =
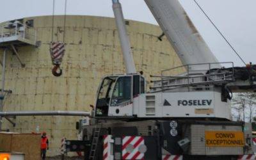
M144 145L142 136L124 136L122 140L122 159L144 159L144 153L139 151L141 145Z

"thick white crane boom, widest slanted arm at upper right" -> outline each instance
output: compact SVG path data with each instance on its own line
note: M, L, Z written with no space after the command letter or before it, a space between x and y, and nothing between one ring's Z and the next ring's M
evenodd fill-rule
M218 62L178 0L145 0L145 3L183 65ZM200 70L196 68L200 66L191 67L191 70ZM218 67L220 65L216 65Z

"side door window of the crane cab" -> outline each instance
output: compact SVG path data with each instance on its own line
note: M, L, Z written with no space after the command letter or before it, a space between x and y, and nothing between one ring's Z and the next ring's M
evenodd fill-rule
M111 106L131 100L131 76L118 77L113 90Z

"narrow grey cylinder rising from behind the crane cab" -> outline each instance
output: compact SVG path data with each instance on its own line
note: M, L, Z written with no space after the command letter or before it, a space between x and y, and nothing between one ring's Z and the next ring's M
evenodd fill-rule
M118 35L120 39L120 44L122 47L125 70L127 74L136 73L136 68L134 60L132 57L131 44L127 35L127 29L125 27L124 14L122 12L122 6L118 0L112 0L113 2L113 12L116 20L116 27L118 29Z

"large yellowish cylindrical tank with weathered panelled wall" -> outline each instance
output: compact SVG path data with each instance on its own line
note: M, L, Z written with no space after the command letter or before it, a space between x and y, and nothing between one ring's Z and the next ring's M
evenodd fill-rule
M115 19L92 16L28 17L36 29L38 47L17 47L22 68L13 52L7 52L5 89L12 90L4 100L4 111L90 111L94 104L100 79L109 74L125 72ZM126 22L131 41L136 70L143 71L149 84L150 74L160 74L166 68L181 62L166 38L157 39L162 31L159 26L128 20ZM63 75L54 77L49 43L52 40L67 44L61 64ZM3 50L0 49L0 58ZM13 132L45 131L49 137L47 155L60 154L61 138L77 139L74 116L17 116L13 127L3 119L3 129Z

